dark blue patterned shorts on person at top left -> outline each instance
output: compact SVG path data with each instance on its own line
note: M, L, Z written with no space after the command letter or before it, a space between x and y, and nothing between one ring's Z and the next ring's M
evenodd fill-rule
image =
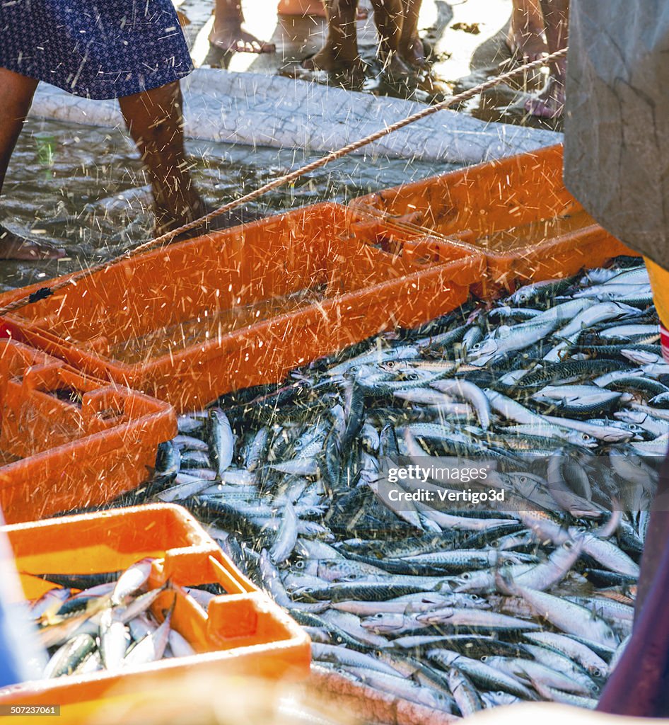
M0 0L0 67L94 99L193 70L170 0Z

